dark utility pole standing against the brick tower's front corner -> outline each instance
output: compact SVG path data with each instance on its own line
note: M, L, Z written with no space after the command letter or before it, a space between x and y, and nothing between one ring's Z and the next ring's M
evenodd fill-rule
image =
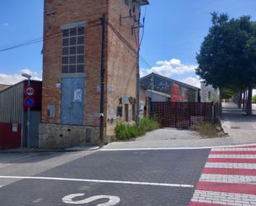
M101 19L101 64L100 64L100 111L99 111L99 146L104 145L104 92L105 92L105 40L106 40L106 14Z

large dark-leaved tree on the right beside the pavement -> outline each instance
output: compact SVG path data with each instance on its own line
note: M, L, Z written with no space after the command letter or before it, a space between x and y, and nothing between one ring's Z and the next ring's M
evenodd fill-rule
M227 14L212 13L209 34L196 55L196 74L206 84L220 89L249 89L247 114L252 113L252 89L256 83L256 26L250 17L229 19Z

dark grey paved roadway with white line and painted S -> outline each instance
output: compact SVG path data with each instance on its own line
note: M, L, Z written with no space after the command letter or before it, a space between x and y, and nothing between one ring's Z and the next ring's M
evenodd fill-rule
M188 205L209 152L0 154L0 205Z

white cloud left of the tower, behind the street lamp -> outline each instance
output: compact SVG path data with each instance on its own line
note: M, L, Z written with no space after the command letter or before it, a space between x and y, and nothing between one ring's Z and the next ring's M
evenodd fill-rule
M22 73L30 74L32 76L31 79L41 80L41 75L38 75L36 71L32 71L31 69L22 69L20 74L1 74L0 73L0 84L17 84L18 82L26 79L22 77Z

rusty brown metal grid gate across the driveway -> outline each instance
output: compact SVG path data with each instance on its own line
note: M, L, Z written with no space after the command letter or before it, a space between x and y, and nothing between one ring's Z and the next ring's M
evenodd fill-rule
M219 104L216 103L171 103L154 102L150 115L162 127L187 128L199 122L216 122L219 118Z

